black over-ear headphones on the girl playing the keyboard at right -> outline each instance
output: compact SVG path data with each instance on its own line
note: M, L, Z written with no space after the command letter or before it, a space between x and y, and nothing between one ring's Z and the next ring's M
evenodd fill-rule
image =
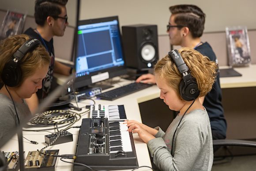
M196 99L199 96L200 91L198 89L196 79L190 74L188 66L184 63L184 60L176 49L172 50L168 54L171 56L171 59L173 59L176 67L182 75L182 80L179 84L182 99L186 101Z

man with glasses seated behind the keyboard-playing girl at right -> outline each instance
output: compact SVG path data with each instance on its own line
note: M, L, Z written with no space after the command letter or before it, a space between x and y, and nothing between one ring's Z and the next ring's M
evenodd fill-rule
M175 5L169 7L172 15L167 25L167 33L171 45L194 48L211 61L217 61L215 53L207 42L202 42L205 14L195 5ZM155 83L153 74L144 74L136 82ZM206 108L211 121L213 139L226 138L226 119L222 108L222 92L219 73L211 91L200 102Z

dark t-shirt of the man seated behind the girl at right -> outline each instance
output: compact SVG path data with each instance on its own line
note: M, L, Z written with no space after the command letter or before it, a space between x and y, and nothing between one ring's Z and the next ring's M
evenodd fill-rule
M202 45L195 48L198 52L207 56L211 61L216 61L215 53L211 46L205 42ZM219 72L217 79L212 86L212 89L204 98L203 106L206 108L210 121L211 130L214 134L222 135L226 138L226 119L224 118L224 110L222 108L222 91L219 82Z

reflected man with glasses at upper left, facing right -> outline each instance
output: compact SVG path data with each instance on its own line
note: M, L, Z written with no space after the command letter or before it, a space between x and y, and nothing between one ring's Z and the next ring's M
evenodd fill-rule
M67 2L68 0L36 0L34 17L37 27L25 31L25 34L41 41L51 56L51 63L48 74L43 80L42 89L39 89L37 94L30 99L26 99L32 112L38 107L39 100L49 94L53 85L53 72L69 75L72 71L71 67L55 61L53 47L53 37L63 36L68 26Z

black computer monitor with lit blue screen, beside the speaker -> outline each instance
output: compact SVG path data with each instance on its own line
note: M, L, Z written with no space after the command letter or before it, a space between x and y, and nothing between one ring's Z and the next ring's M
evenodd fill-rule
M79 20L75 43L76 90L126 74L118 16Z

